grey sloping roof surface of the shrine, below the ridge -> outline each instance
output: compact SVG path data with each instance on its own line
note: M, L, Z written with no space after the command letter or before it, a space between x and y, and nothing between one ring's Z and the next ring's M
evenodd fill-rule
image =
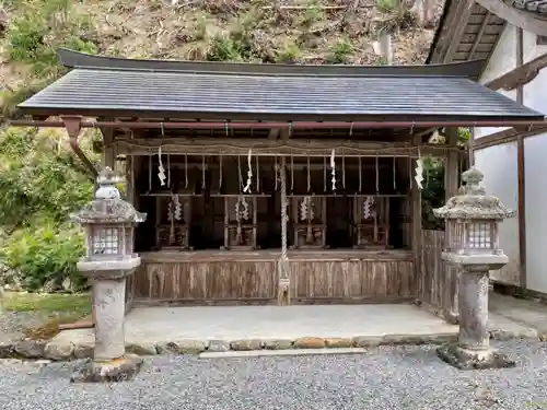
M274 74L74 68L20 108L49 115L140 113L202 119L234 115L318 120L544 117L465 77L428 75L423 69L421 74L395 75L392 70L392 74L382 75L381 69L374 67L370 74L361 75L313 75L294 74L289 69Z

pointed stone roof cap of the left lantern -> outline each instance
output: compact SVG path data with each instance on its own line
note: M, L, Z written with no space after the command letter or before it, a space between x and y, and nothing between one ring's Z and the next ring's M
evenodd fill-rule
M121 199L116 188L119 181L116 173L105 167L97 177L95 198L79 212L71 214L71 220L80 224L143 222L147 214L138 212L131 203Z

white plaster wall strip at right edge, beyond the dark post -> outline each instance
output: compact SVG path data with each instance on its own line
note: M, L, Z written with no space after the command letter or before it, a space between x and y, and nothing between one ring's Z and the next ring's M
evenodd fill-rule
M546 89L547 91L547 89ZM526 288L547 293L547 133L524 139Z

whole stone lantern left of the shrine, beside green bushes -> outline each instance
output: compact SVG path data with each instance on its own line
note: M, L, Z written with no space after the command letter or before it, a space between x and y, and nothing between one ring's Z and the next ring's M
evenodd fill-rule
M92 283L95 325L94 361L73 379L128 378L142 363L138 356L126 355L124 316L126 278L140 265L133 254L133 230L147 214L120 198L117 183L114 171L104 168L97 177L95 198L71 215L84 230L86 254L78 269Z

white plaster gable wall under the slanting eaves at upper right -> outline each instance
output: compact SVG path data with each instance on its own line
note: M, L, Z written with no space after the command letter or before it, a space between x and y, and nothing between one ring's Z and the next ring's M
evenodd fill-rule
M516 67L516 27L514 25L508 24L498 44L488 61L488 65L480 77L479 82L481 84L487 83L491 80L503 75L504 73L513 70ZM516 91L504 91L501 90L500 94L503 94L512 99L516 99ZM508 127L484 127L475 129L475 138L481 138L490 133L499 132Z

